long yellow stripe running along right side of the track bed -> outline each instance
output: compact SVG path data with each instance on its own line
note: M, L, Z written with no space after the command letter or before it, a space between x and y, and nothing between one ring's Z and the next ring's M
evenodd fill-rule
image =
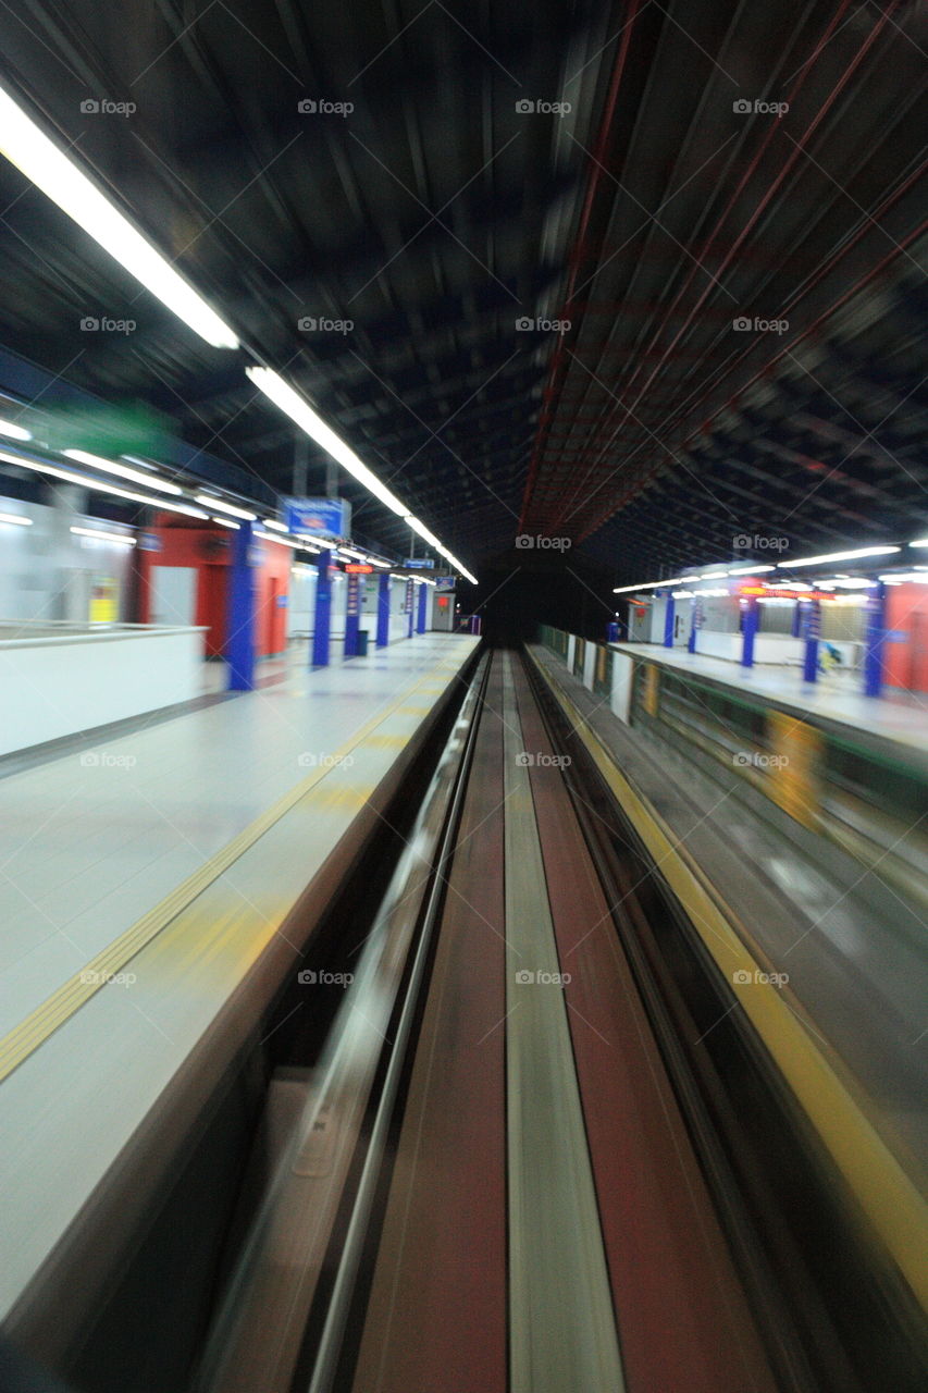
M747 971L750 988L733 990L747 1017L789 1082L793 1095L810 1117L822 1142L857 1197L874 1229L896 1261L922 1308L928 1309L928 1208L915 1184L886 1146L846 1084L822 1056L812 1036L789 1009L779 989L757 982L757 961L732 926L737 919L679 839L634 790L619 770L614 755L587 723L557 678L545 671L532 656L535 667L567 712L574 730L592 755L599 772L628 814L660 873L687 910L706 949L732 982L733 974ZM725 960L723 960L723 951Z

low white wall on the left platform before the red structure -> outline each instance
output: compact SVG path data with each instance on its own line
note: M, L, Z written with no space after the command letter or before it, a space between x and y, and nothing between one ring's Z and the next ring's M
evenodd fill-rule
M202 628L0 642L0 755L201 695Z

